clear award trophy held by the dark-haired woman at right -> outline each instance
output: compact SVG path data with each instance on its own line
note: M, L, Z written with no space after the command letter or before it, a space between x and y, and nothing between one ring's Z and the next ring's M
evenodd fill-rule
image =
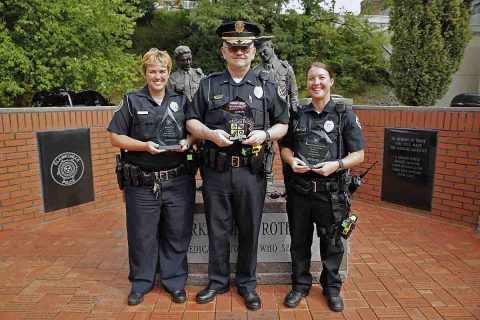
M298 141L296 149L300 160L311 169L317 163L328 159L332 140L323 131L312 130L305 135L305 139Z

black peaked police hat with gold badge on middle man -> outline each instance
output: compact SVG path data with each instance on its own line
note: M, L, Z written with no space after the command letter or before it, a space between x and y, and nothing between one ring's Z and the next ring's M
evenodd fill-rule
M248 47L260 32L258 25L246 21L225 22L216 31L227 45L235 47Z

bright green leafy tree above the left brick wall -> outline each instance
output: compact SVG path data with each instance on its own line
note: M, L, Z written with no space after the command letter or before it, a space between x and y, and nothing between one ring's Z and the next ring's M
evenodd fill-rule
M0 5L0 105L28 106L36 91L132 86L128 54L138 9L121 0L4 0Z

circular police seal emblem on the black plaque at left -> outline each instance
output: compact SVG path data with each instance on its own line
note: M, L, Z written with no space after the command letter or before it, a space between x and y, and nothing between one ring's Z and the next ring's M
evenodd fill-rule
M53 159L50 174L61 186L73 186L83 176L85 166L82 158L73 152L64 152Z

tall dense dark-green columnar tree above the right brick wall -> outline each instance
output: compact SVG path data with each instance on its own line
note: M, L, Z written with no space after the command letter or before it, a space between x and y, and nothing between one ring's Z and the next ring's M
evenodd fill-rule
M396 96L432 105L448 89L470 39L471 1L393 0L391 70Z

